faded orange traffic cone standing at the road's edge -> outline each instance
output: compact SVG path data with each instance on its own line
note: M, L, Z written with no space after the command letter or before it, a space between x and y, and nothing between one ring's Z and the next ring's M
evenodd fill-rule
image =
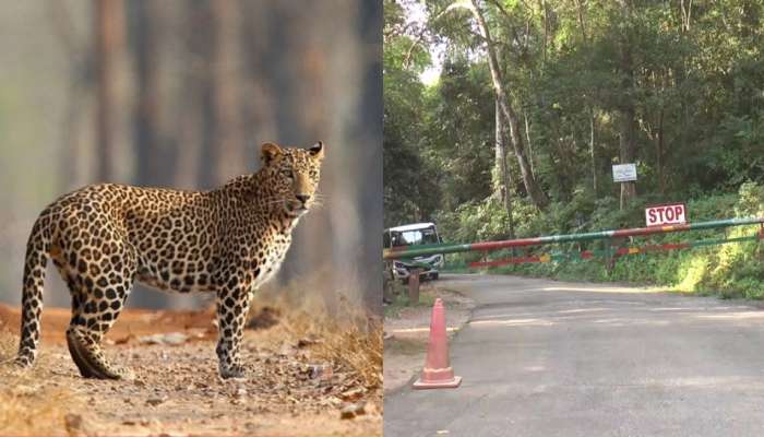
M430 319L430 343L421 377L414 382L415 389L450 389L462 383L461 376L454 376L449 362L449 339L445 336L445 311L443 302L435 299Z

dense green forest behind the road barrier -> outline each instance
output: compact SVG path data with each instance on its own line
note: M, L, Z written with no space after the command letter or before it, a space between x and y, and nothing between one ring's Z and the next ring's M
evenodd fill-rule
M764 1L384 0L384 14L385 227L580 233L676 201L691 222L764 216ZM624 163L635 184L612 181ZM620 273L516 270L764 296L761 249L729 247Z

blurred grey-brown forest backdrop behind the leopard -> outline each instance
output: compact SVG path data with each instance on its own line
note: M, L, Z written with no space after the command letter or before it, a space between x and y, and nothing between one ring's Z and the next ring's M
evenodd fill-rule
M210 189L260 144L327 146L326 196L270 285L379 310L382 4L3 1L0 300L17 304L26 238L60 194L111 181ZM52 271L46 303L69 305ZM199 305L136 286L132 307Z

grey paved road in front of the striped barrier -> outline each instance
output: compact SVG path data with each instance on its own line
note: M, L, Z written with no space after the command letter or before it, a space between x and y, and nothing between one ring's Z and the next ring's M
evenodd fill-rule
M386 395L385 437L764 435L764 309L609 285L444 279L478 305L451 343L464 381Z

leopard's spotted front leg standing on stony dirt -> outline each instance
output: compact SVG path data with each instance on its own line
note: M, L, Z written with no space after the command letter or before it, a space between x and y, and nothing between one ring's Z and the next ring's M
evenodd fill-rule
M215 352L219 359L218 369L223 378L242 378L244 367L239 356L244 323L252 294L244 287L224 287L217 293L217 333Z

